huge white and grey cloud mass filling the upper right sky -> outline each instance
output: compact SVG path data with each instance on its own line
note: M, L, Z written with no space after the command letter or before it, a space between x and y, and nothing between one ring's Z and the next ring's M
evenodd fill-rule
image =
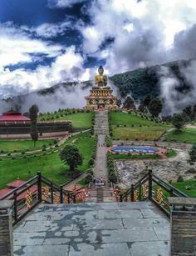
M91 17L91 26L80 27L85 53L100 53L102 58L100 46L107 38L114 38L106 49L106 68L110 74L189 58L176 48L174 38L194 25L194 0L101 0L92 1L86 12Z

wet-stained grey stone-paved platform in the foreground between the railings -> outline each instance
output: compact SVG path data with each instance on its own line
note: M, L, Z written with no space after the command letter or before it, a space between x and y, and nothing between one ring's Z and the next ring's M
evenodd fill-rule
M167 256L169 219L151 202L42 204L14 228L14 256Z

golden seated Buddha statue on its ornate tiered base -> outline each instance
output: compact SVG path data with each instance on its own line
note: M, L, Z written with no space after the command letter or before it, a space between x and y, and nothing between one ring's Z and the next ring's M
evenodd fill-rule
M103 74L104 68L98 68L95 86L91 88L90 95L86 97L85 109L118 109L118 98L113 95L113 90L107 87L107 77Z

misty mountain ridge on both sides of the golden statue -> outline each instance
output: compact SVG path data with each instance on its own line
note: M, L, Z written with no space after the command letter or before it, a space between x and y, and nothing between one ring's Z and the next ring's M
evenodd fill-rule
M109 80L115 88L117 88L117 96L119 98L125 98L127 95L131 95L132 98L140 101L149 94L152 98L161 98L164 105L167 105L168 103L165 102L165 98L168 101L171 99L167 98L167 95L162 95L163 87L161 91L160 81L161 78L163 78L163 67L168 68L169 73L172 74L174 83L176 83L176 81L178 82L177 86L174 84L173 88L171 88L173 92L170 91L169 93L174 93L174 95L176 95L175 98L172 98L175 110L181 110L184 108L184 104L189 105L190 102L189 100L184 100L183 105L180 105L179 99L182 97L184 98L186 94L192 94L191 90L194 90L193 86L188 83L183 72L190 63L191 60L181 60L149 68L139 68L134 71L115 74L110 77ZM165 74L164 76L167 78ZM84 98L89 93L89 88L91 88L91 86L92 81L83 83L58 83L51 88L45 88L37 92L27 93L26 95L8 98L6 100L6 108L10 106L25 112L32 103L37 103L42 112L54 111L58 108L82 108L85 105ZM169 111L170 110L167 109L168 113Z

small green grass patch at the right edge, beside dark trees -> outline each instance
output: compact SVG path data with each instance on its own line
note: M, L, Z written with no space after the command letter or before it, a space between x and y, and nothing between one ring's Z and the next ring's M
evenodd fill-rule
M182 131L172 131L165 138L166 141L180 143L196 143L196 129L184 128Z

